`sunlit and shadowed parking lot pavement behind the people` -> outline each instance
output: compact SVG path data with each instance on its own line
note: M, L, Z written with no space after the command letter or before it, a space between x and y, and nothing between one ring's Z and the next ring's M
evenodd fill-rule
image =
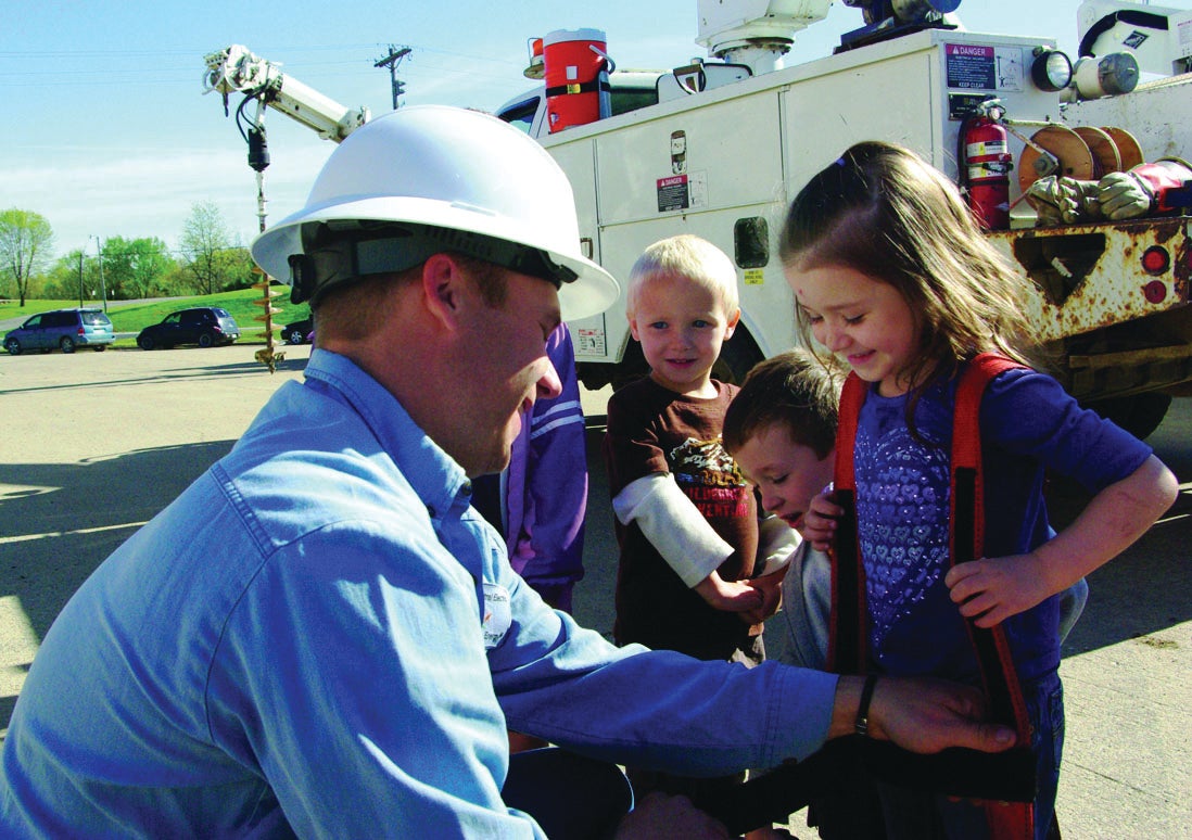
M39 640L91 571L300 380L309 347L271 374L255 346L0 354L0 724ZM603 394L586 393L591 479L581 623L608 634L616 552L600 462ZM1095 573L1064 646L1067 838L1184 838L1192 826L1192 399L1150 442L1180 477L1172 511ZM1079 491L1058 487L1070 516ZM0 729L2 733L2 729ZM796 834L813 836L799 816Z

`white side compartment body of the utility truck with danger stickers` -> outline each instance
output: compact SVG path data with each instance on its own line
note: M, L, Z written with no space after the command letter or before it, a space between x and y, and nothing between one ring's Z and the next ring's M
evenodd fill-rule
M927 30L539 139L571 179L592 259L623 280L641 250L665 236L690 232L716 243L738 257L744 324L771 355L796 341L774 238L799 188L849 145L875 137L915 149L955 178L958 123L949 116L949 94L971 99L988 88L949 88L949 74L963 83L992 76L1016 117L1057 120L1055 94L1023 77L1038 43ZM675 142L685 144L682 172ZM740 266L734 228L752 219L769 230L766 259ZM581 362L621 357L623 312L622 298L573 325Z

